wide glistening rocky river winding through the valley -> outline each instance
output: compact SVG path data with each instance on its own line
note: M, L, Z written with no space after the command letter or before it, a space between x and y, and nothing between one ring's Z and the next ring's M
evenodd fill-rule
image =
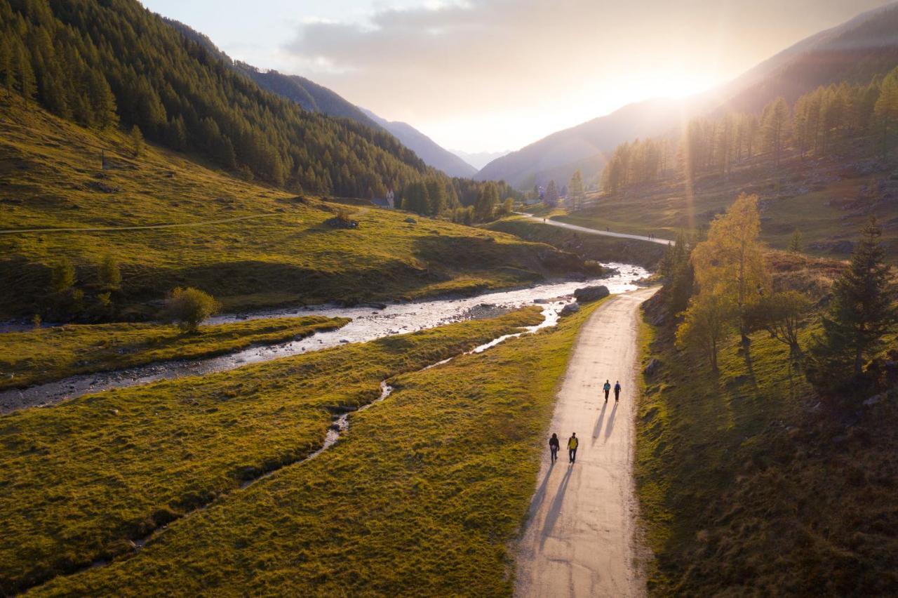
M323 305L255 312L246 315L217 316L210 319L208 323L307 315L345 317L351 318L352 321L339 330L320 332L305 339L279 345L249 347L225 356L169 361L97 374L79 374L57 382L32 386L24 390L2 391L0 392L0 414L24 407L54 405L62 400L114 388L154 383L182 376L224 372L242 365L269 361L279 357L293 356L322 348L337 347L341 344L366 342L394 334L405 334L416 330L433 328L453 321L462 321L476 317L479 311L489 314L493 308L515 309L524 305L541 303L544 305L543 315L545 319L540 327L550 326L558 321L561 308L572 300L570 295L577 288L590 285L604 285L608 286L612 294L624 293L637 288L634 282L648 275L646 269L629 264L609 263L605 264L605 266L614 268L617 272L609 277L585 281L547 282L526 288L497 291L473 297L435 299L416 303L392 303L383 307L372 307L370 305L357 307ZM483 347L478 347L478 349L482 350L500 341L501 339L495 339Z

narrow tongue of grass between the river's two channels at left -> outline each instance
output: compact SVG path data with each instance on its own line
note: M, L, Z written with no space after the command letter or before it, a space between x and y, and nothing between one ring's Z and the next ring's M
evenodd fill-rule
M84 324L9 332L0 346L0 389L171 359L197 359L336 330L347 318L305 316L239 321L182 332L159 324Z

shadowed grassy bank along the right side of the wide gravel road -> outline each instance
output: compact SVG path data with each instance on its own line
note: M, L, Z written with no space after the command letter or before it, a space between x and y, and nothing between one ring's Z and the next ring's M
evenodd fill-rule
M782 259L775 286L819 299L836 266ZM727 339L713 374L704 356L674 348L674 321L648 323L657 316L647 310L644 364L659 363L644 379L636 468L656 554L649 593L893 595L894 391L834 415L766 333L747 351Z

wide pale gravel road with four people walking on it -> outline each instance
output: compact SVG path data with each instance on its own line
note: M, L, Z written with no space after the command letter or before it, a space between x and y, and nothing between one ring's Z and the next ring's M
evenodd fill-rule
M559 391L524 534L517 545L515 596L641 596L633 442L636 414L639 305L656 292L614 295L580 330ZM602 385L621 381L604 402ZM568 438L580 439L568 462Z

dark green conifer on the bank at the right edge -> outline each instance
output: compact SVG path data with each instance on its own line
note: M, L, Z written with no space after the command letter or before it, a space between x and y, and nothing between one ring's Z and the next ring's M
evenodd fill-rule
M848 267L832 286L832 300L821 323L823 332L814 339L808 379L832 388L833 378L857 379L865 360L895 330L898 299L891 268L885 264L882 229L871 217Z

